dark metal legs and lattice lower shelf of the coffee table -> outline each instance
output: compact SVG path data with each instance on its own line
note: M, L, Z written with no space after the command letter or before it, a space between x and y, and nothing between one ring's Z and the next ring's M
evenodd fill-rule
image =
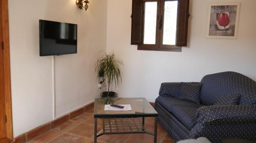
M140 134L146 133L154 136L154 143L157 143L157 116L158 114L94 114L94 142L97 137L104 134ZM145 130L145 117L154 117L154 133ZM98 118L102 119L103 132L98 134Z

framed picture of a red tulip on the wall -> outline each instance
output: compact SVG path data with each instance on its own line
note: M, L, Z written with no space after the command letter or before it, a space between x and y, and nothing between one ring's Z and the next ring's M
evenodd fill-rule
M236 39L238 35L240 3L212 3L209 5L207 38Z

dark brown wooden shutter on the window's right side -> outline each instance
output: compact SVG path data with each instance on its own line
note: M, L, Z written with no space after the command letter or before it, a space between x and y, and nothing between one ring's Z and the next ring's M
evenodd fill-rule
M176 46L187 46L189 0L178 0Z

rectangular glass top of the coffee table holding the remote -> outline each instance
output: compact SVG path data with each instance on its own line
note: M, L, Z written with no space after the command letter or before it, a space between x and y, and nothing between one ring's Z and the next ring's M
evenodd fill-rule
M126 118L126 117L156 117L157 111L145 98L112 98L114 104L131 104L130 111L105 111L104 98L95 98L95 118Z

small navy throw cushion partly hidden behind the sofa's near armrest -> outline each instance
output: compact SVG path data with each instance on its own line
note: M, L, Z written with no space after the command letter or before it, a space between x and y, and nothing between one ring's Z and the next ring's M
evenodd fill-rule
M238 105L241 95L227 95L216 98L214 105Z

